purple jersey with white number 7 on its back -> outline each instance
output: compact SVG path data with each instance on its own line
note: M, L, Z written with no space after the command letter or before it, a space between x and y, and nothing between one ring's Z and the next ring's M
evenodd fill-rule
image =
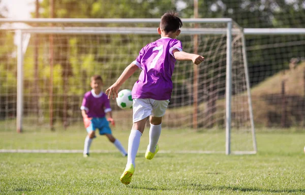
M173 89L171 76L176 59L172 51L182 51L179 40L162 37L141 49L132 63L141 70L139 80L132 89L132 98L169 100Z

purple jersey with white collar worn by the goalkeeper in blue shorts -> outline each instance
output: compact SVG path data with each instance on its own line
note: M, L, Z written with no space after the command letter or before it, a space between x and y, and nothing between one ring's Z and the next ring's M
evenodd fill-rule
M89 118L103 118L111 111L108 96L103 92L95 94L94 90L85 93L80 109L85 110Z

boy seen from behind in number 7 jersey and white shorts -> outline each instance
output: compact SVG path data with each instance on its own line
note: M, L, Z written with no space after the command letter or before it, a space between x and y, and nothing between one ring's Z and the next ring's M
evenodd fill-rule
M126 169L120 181L128 185L135 171L135 158L140 138L149 116L149 144L145 158L153 159L159 150L158 141L161 134L162 116L167 109L173 84L171 76L175 61L193 61L199 64L204 57L182 51L182 45L175 38L180 34L182 22L174 12L165 13L158 27L161 39L143 47L138 57L120 75L107 90L108 98L117 98L118 89L136 70L142 70L139 80L132 89L133 126L128 141L128 159Z

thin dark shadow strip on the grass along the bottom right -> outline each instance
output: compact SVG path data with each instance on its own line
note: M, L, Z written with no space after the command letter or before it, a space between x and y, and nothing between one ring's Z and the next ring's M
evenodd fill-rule
M242 186L212 186L208 184L198 184L198 183L181 183L177 187L161 187L161 186L139 186L139 185L131 185L130 188L134 189L147 189L147 190L186 190L186 189L192 189L197 191L212 191L212 190L232 190L232 191L242 191L242 192L271 192L271 193L304 193L305 189L264 189L259 187L242 187ZM181 189L180 189L181 188Z

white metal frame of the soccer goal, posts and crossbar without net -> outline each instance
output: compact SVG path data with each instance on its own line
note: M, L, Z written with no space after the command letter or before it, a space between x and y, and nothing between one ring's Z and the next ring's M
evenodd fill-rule
M0 23L56 23L56 24L115 24L115 23L124 23L124 24L135 24L135 23L159 23L160 19L66 19L66 18L38 18L38 19L26 19L26 20L14 20L14 19L0 19ZM248 65L247 65L247 55L246 55L246 45L245 45L245 34L255 34L255 30L247 30L240 28L236 23L233 24L232 19L230 18L201 18L201 19L182 19L184 24L224 24L221 27L186 27L181 31L182 35L225 35L226 37L226 82L225 82L225 153L235 153L235 154L252 154L257 152L256 139L255 139L255 129L253 121L253 111L251 105L251 92L250 92L250 83L249 83L249 74L248 74ZM235 27L233 28L232 25ZM23 123L23 67L24 67L24 34L56 34L56 35L103 35L103 34L139 34L139 35L149 35L156 34L156 28L151 27L83 27L83 26L63 26L63 27L2 27L6 30L15 30L17 38L17 132L22 131ZM234 95L238 96L238 93L246 93L248 98L248 114L249 122L251 123L250 132L252 135L252 145L253 150L251 151L231 151L231 114L232 114L232 35L238 34L241 42L240 51L242 55L243 63L243 73L245 77L245 91L234 91ZM237 85L237 84L236 84ZM196 110L197 108L194 108ZM195 111L197 112L197 111ZM209 152L207 152L209 153Z

